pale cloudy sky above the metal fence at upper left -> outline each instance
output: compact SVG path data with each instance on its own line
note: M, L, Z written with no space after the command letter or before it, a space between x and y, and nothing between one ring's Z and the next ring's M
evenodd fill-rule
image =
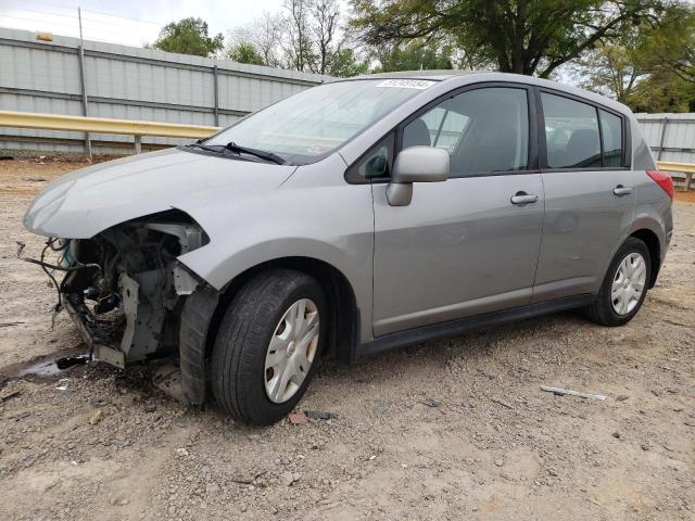
M211 34L226 36L264 11L280 11L282 0L0 0L0 27L78 37L78 7L86 40L142 46L168 22L188 16L205 20Z

